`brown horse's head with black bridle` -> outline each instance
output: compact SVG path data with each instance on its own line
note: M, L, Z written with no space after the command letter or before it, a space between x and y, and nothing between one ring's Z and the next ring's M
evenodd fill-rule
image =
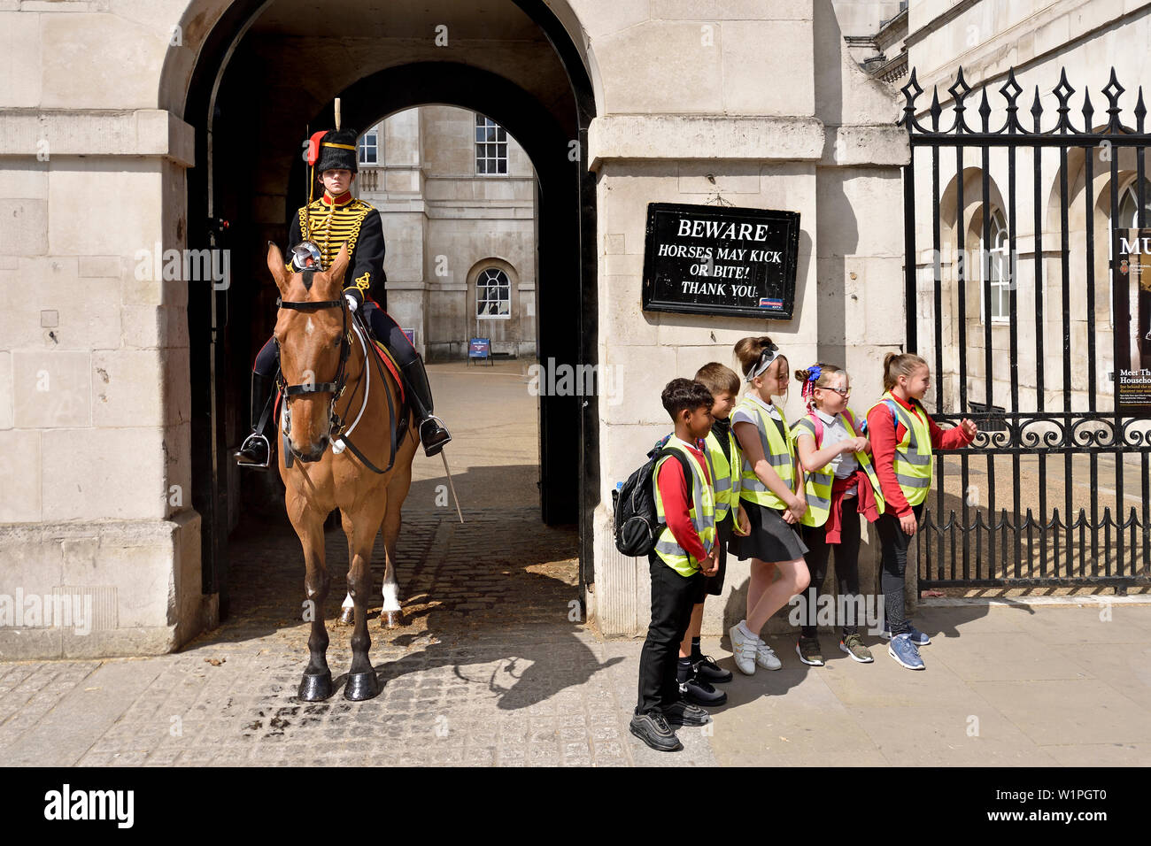
M323 456L331 435L334 388L342 375L345 331L351 328L343 302L348 246L326 272L291 273L284 266L280 247L268 244L268 269L280 289L284 305L276 318L275 338L280 345L280 369L290 390L283 398L281 414L290 416L289 443L303 462ZM307 303L337 302L338 307L308 308ZM328 390L322 388L328 387ZM312 390L312 388L319 388Z

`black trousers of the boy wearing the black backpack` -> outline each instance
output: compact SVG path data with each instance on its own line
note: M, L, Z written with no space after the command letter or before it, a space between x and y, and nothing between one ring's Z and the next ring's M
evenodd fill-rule
M685 577L669 567L658 555L648 555L651 571L651 624L640 653L640 691L637 714L662 710L679 699L676 662L679 643L692 622L692 607L703 574Z

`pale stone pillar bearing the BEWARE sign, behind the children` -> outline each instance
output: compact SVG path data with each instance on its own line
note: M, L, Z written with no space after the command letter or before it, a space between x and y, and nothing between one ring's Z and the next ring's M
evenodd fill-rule
M906 138L893 125L892 93L847 60L830 0L757 13L770 20L718 23L676 8L683 20L638 23L595 41L604 99L617 105L592 122L588 136L599 176L599 365L608 384L622 387L600 401L592 613L605 634L641 634L647 626L647 562L615 552L610 491L671 428L660 404L670 379L691 378L712 360L735 369L734 343L767 334L792 369L845 364L862 413L878 397L877 361L902 338ZM626 82L616 78L620 64ZM647 204L716 204L717 196L800 213L792 320L642 311ZM792 421L802 413L799 391L785 410ZM724 595L706 605L706 634L744 616L748 569L749 562L729 561ZM870 564L864 578L874 578ZM770 630L790 630L787 610Z

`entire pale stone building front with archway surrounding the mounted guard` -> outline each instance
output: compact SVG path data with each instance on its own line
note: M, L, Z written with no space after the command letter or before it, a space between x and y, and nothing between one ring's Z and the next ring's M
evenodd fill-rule
M0 630L3 657L160 651L214 625L238 487L222 465L274 313L262 246L284 238L305 193L300 140L330 124L334 98L346 125L376 127L382 166L364 168L360 191L384 211L389 306L429 358L490 327L497 351L625 387L610 403L541 397L541 473L543 518L580 523L589 613L631 634L646 625L647 565L616 555L610 491L668 428L660 387L768 334L795 367L844 364L862 401L905 343L902 81L869 71L905 44L928 90L960 63L973 85L1014 66L1041 91L1060 63L1091 86L1113 62L1130 89L1148 74L1138 3L325 9L0 3L0 593L82 593L99 609L83 639ZM477 169L475 131L489 143L477 113L521 145L509 140L506 174ZM650 203L799 213L793 317L645 311ZM983 229L959 214L954 227ZM952 390L951 371L940 381ZM732 564L719 604L738 605L746 576Z

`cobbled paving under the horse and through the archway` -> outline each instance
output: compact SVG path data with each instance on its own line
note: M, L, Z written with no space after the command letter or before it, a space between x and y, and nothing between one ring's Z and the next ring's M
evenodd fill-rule
M380 541L373 555L376 699L342 698L351 630L331 622L348 567L335 528L325 610L337 689L296 700L303 556L273 509L230 539L231 618L181 653L0 663L0 755L83 767L666 763L627 732L639 645L602 642L579 620L576 528L540 523L525 367L429 367L465 523L447 505L440 459L418 456L398 549L402 628L378 626ZM714 763L702 732L684 736L676 763Z

